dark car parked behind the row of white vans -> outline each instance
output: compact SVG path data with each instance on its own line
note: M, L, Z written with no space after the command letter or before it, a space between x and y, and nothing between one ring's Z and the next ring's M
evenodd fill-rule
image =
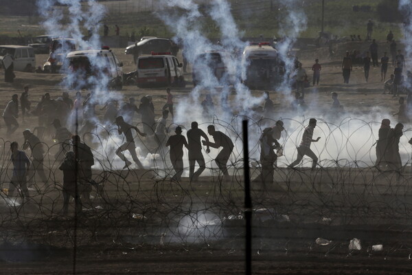
M133 54L133 60L137 64L137 58L142 54L152 52L172 52L172 41L170 39L159 39L158 37L144 39L126 47L125 54Z

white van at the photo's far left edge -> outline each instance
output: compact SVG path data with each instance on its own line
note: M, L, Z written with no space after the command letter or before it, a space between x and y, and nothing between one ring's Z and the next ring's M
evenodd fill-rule
M0 45L0 58L5 54L10 54L13 57L14 71L32 72L36 68L36 57L32 47Z

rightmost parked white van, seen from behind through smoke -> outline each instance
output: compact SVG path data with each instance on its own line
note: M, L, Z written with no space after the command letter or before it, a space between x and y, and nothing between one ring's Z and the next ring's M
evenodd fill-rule
M285 65L269 42L251 43L244 48L242 63L247 65L242 82L253 89L266 89L282 83Z

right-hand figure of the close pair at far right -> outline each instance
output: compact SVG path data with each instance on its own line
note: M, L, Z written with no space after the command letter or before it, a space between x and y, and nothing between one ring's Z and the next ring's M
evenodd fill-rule
M402 169L402 161L399 154L399 141L403 133L403 124L396 124L394 129L390 129L387 137L387 151L385 153L387 164L393 171L400 173Z

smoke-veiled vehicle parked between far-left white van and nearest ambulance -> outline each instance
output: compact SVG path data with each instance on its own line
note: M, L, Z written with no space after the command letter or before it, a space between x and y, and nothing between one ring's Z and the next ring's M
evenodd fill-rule
M50 54L43 65L45 73L56 73L60 71L63 62L69 52L78 50L74 39L53 39L50 44Z

